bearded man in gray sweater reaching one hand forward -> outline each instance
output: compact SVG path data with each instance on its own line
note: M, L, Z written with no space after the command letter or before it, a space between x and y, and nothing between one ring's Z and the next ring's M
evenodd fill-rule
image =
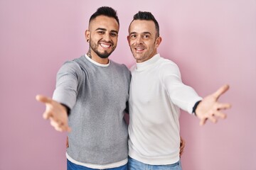
M43 117L55 130L68 131L68 169L127 169L129 69L108 57L117 47L119 19L110 7L92 14L85 38L86 55L63 64L57 74L53 99Z

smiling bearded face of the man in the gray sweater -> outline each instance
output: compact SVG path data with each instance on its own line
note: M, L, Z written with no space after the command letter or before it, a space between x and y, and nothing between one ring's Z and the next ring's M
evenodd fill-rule
M90 21L89 30L85 31L90 42L92 60L107 59L117 47L119 24L112 17L97 16Z

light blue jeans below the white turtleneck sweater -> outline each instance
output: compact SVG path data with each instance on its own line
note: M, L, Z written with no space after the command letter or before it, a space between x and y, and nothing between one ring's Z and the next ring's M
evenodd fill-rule
M181 170L181 161L168 165L150 165L139 162L129 157L129 170Z

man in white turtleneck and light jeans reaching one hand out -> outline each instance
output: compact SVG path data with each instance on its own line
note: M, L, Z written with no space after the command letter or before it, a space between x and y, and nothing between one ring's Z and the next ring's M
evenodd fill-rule
M226 117L220 110L230 108L228 103L218 103L228 85L202 99L183 84L178 66L157 52L159 24L149 12L134 15L127 40L137 61L130 69L129 169L181 170L180 108L196 115L201 125L206 120L215 123Z

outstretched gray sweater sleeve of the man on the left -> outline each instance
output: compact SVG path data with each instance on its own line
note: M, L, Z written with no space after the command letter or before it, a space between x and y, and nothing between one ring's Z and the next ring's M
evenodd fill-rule
M78 79L81 69L76 62L65 62L57 73L53 100L72 109L78 94Z

